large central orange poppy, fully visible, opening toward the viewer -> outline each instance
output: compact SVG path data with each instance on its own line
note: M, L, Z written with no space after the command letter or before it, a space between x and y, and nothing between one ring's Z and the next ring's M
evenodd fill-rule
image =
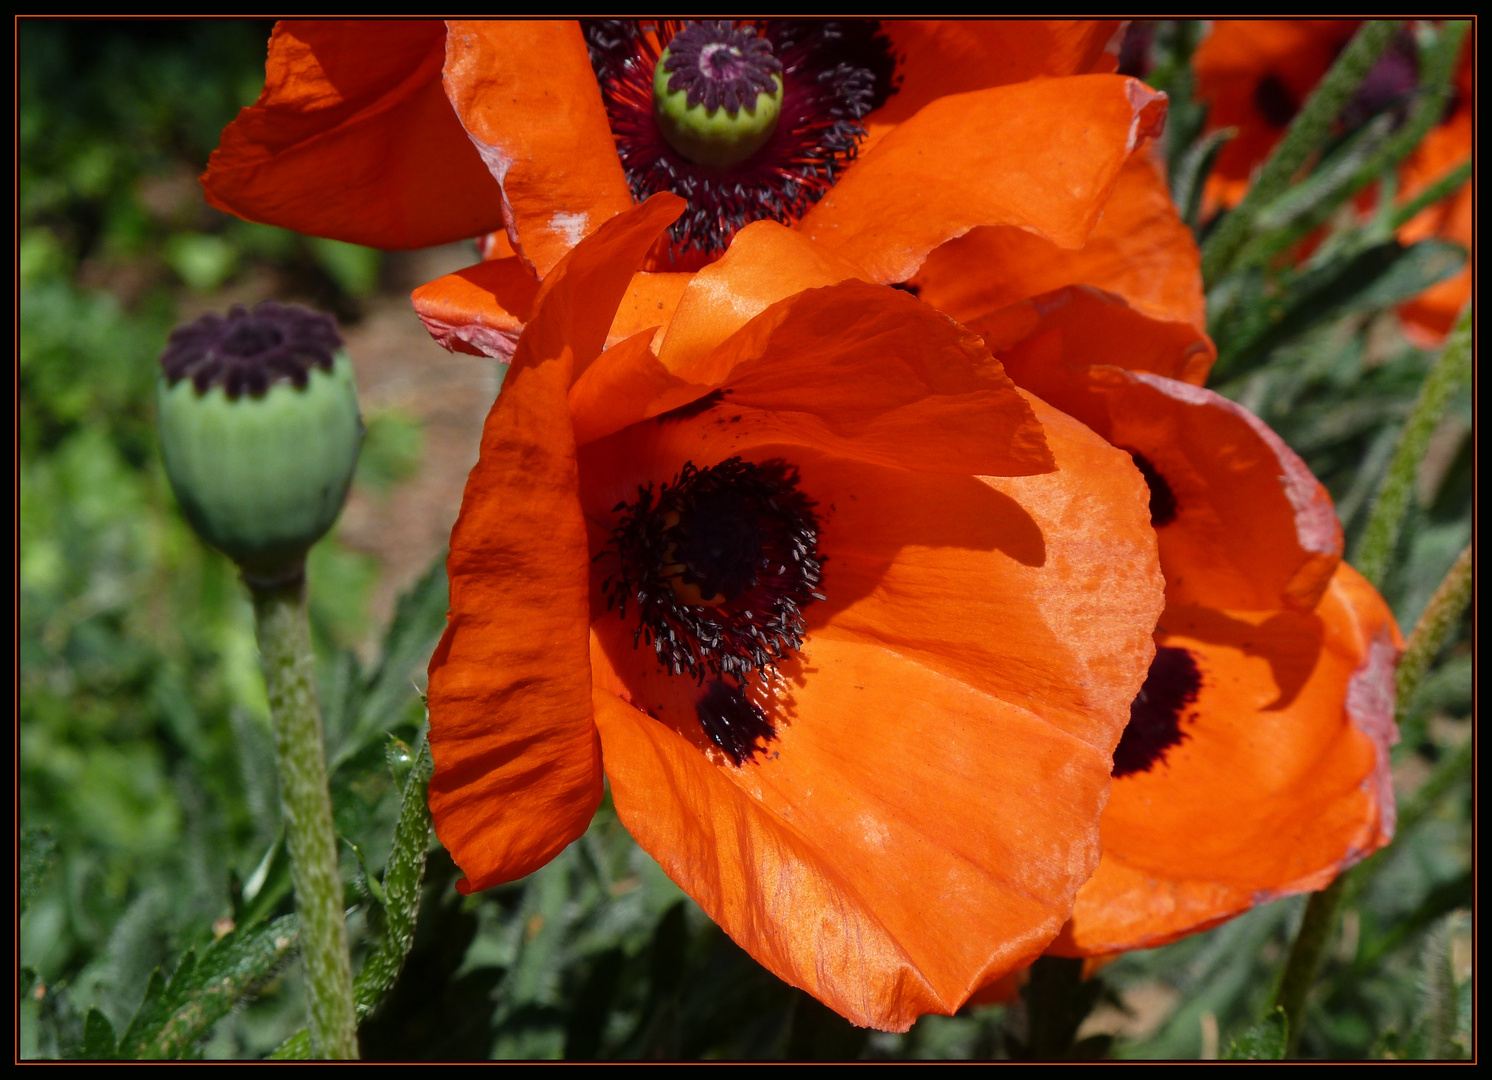
M1098 861L1161 580L1128 455L774 222L603 351L683 209L545 280L451 540L436 828L464 891L622 822L861 1025L1028 964ZM783 300L745 315L776 274Z

